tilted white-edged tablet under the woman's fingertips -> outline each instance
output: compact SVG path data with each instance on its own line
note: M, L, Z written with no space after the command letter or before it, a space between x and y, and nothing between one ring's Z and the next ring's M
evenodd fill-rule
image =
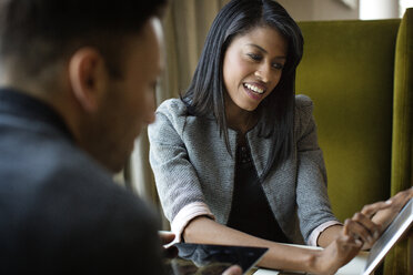
M413 198L403 207L370 251L363 275L369 275L379 266L384 256L413 224Z

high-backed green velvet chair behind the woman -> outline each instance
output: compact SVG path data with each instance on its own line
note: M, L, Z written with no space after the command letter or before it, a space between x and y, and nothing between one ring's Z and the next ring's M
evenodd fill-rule
M412 186L413 9L402 20L300 22L304 57L296 92L314 101L333 212L344 221L365 204ZM413 274L407 241L384 274Z

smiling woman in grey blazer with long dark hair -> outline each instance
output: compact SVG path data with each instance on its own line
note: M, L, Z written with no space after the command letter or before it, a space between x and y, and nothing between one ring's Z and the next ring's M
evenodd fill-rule
M178 241L265 246L260 266L332 274L376 240L372 213L341 225L330 210L313 104L294 92L302 51L275 1L232 0L216 16L187 92L149 126ZM326 248L280 244L303 242Z

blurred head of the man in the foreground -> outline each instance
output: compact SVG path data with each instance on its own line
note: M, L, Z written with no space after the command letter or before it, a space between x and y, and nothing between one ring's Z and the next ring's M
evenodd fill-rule
M0 85L52 105L75 142L119 171L153 121L167 0L0 0Z

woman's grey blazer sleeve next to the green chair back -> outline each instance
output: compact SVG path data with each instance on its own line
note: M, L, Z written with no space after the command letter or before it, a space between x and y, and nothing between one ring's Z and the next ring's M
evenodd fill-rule
M323 153L319 147L313 103L305 95L298 96L295 135L298 152L296 204L300 227L306 243L316 228L338 224L331 211L326 187L326 172ZM319 232L320 234L321 232ZM315 237L315 245L316 245Z

